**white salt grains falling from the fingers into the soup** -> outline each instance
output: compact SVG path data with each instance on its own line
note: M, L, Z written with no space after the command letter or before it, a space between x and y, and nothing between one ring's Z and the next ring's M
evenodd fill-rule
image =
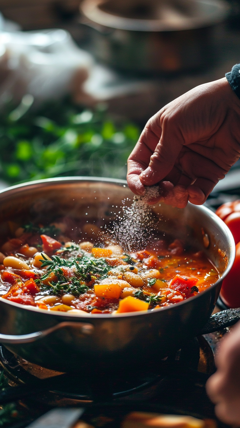
M147 247L153 236L155 223L153 212L147 202L159 197L159 187L146 187L144 196L134 196L130 207L123 201L123 217L111 231L114 241L125 251L138 251Z

